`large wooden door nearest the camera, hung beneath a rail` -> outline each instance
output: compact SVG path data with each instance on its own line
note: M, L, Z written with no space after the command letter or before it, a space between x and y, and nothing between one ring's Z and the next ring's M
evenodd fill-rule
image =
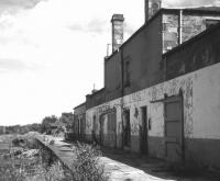
M182 97L172 97L164 102L165 154L167 160L180 162L184 158L184 123Z

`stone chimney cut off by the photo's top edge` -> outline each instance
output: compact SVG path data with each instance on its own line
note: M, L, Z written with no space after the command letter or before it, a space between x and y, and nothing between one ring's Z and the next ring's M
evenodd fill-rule
M144 0L145 23L162 8L162 0Z

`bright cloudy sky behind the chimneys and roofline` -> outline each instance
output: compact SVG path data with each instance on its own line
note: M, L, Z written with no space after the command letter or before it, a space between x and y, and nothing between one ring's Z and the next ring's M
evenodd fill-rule
M210 4L220 0L163 1ZM101 89L113 13L124 15L127 39L144 22L144 0L0 0L0 125L73 112Z

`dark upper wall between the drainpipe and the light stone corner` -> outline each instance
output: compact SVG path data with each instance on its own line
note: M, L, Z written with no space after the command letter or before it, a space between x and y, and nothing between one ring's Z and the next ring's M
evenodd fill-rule
M162 14L150 21L122 48L123 64L129 59L131 68L130 86L124 87L124 94L161 82L163 77L163 71L160 68L162 60Z

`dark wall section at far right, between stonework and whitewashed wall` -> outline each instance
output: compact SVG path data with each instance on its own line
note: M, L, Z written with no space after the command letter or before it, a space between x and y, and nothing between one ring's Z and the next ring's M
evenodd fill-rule
M206 33L206 36L194 38L175 52L164 55L166 79L191 72L206 66L219 63L220 26Z

